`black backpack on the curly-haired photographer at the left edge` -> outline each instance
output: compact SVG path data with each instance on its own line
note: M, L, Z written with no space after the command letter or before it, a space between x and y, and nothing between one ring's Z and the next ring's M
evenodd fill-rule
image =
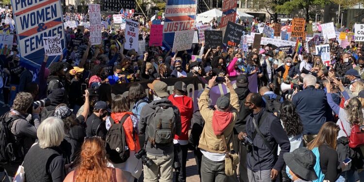
M10 131L14 121L22 117L9 115L10 111L0 116L0 164L22 159L21 146L19 146L15 136Z

